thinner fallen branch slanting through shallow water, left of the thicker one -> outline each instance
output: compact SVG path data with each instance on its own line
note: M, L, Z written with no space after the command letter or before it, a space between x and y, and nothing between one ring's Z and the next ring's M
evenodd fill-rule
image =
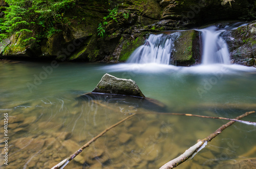
M116 127L117 125L123 123L126 119L131 118L132 116L134 116L136 113L125 117L124 119L120 120L118 123L110 126L109 128L103 130L100 134L98 134L96 137L92 138L90 141L88 141L86 144L84 144L77 152L75 152L74 154L72 154L69 158L66 158L65 160L61 161L60 163L58 163L57 165L55 165L54 167L52 167L51 169L59 169L59 168L63 168L65 167L69 161L73 160L78 154L80 154L83 149L87 148L90 146L91 143L93 143L94 141L97 140L97 138L101 137L103 134L105 134L107 131L111 130L112 128Z

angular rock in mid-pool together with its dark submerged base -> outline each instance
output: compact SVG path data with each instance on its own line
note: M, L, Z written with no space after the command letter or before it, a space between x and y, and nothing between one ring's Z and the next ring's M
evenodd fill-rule
M105 74L102 77L92 92L79 96L77 100L96 101L94 103L99 105L102 105L100 101L114 104L115 106L118 104L121 107L126 107L125 112L130 112L130 110L137 108L166 112L166 106L157 100L146 98L135 81L119 79L109 74ZM81 103L78 102L78 104Z

